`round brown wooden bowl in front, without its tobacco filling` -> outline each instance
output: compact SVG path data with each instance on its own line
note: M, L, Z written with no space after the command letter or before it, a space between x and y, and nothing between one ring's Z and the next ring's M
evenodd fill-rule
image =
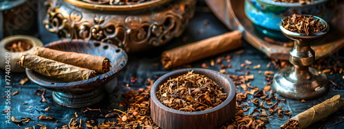
M206 75L219 86L222 86L224 93L228 95L227 99L209 110L190 113L164 106L155 95L160 85L170 78L176 78L192 70L193 73ZM164 129L220 128L235 117L235 84L226 75L209 69L190 68L171 71L162 75L151 88L151 117L160 128Z

